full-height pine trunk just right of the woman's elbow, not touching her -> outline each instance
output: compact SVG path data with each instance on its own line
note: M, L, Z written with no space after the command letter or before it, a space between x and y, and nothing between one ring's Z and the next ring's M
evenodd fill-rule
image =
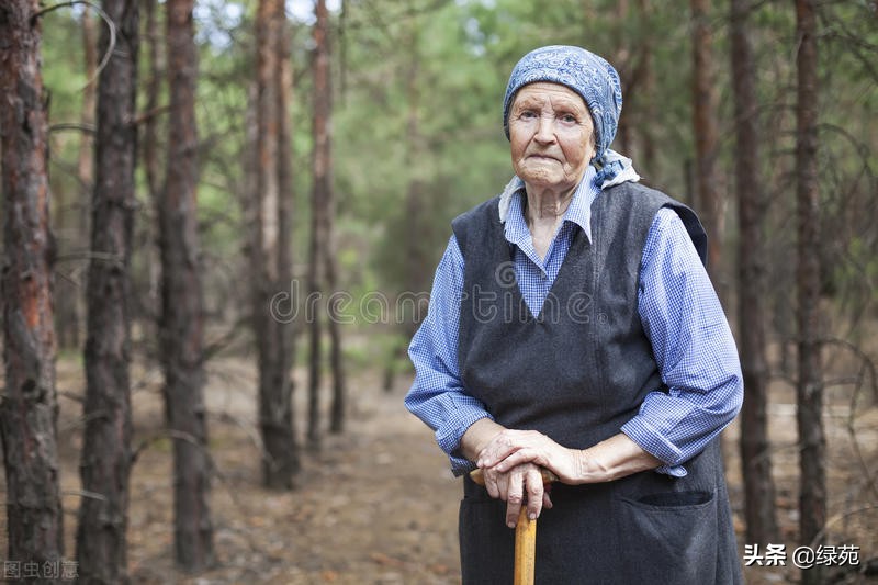
M747 542L777 542L775 484L768 441L768 365L765 329L767 314L765 195L759 176L756 76L750 41L750 0L731 0L732 89L734 91L735 191L738 196L738 318L744 406L741 413L741 466Z

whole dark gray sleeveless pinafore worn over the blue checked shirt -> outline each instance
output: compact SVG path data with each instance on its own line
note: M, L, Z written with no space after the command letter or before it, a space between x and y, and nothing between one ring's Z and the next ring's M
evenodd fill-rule
M674 209L701 259L696 215L635 183L605 190L539 315L515 282L498 198L459 216L464 257L458 359L468 392L497 423L539 430L583 449L619 432L649 392L662 389L638 314L640 262L655 213ZM740 583L718 441L675 479L653 471L616 482L554 485L538 524L537 582ZM464 480L460 510L464 583L509 583L514 531L505 503Z

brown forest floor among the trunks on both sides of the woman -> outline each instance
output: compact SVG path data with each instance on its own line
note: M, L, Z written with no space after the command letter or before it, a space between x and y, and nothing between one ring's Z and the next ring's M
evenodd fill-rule
M81 361L58 362L59 449L65 492L67 558L75 558L74 535L80 490ZM128 566L133 584L454 584L460 583L457 514L460 484L431 431L405 412L409 380L399 376L392 392L374 373L352 375L349 416L340 436L325 435L317 453L303 453L303 473L288 493L260 486L256 426L256 374L251 360L211 362L205 397L210 446L217 474L211 496L216 565L198 575L173 567L171 443L162 438L160 373L135 365L133 392L135 446L146 446L132 471ZM297 384L299 417L304 384ZM786 566L745 567L747 583L796 583L798 462L795 402L779 389L772 405L777 513L786 544ZM878 556L878 497L864 464L874 474L878 459L878 408L859 406L851 423L849 396L829 396L831 529L829 543L859 547L859 558ZM860 400L860 404L867 401ZM855 429L856 442L848 428ZM300 427L300 431L302 428ZM736 458L736 424L727 431L730 494L743 558L742 491ZM859 452L855 448L858 445ZM0 472L0 479L2 479ZM0 481L5 498L5 482ZM5 518L0 518L0 550L5 551ZM841 569L833 567L834 572ZM848 572L837 582L858 583ZM869 582L871 583L871 581Z

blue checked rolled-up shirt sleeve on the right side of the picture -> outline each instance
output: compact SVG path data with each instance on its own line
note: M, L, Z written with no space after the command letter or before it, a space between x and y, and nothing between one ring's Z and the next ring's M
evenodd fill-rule
M665 463L656 471L683 476L683 464L738 415L743 381L720 301L673 210L650 228L638 310L667 389L648 394L621 430Z

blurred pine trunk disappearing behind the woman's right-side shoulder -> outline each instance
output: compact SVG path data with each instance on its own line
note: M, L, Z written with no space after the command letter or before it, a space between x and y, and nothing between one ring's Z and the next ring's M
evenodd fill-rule
M724 201L720 190L717 156L717 76L713 64L713 34L708 22L710 0L690 0L693 14L693 122L696 149L696 201L711 246L708 267L713 285L724 299L721 280Z

